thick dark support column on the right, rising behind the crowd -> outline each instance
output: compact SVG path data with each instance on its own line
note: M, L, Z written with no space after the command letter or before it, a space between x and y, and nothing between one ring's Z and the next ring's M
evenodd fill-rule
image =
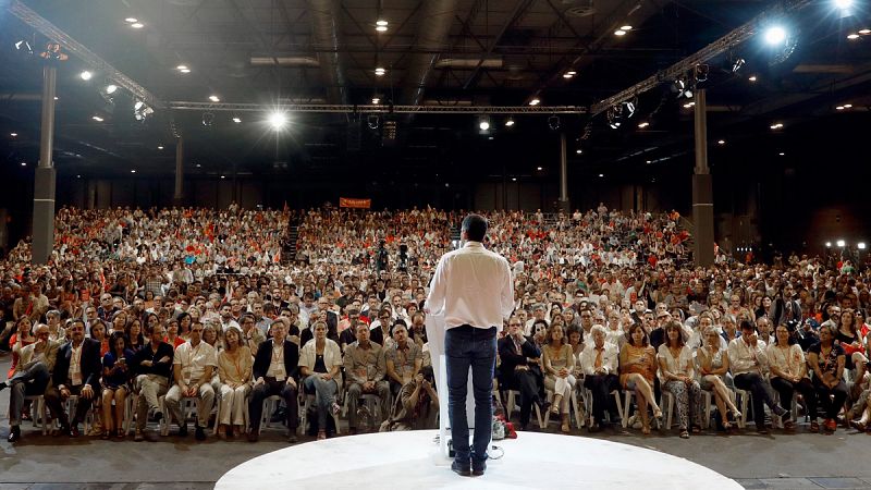
M714 262L714 196L708 168L708 100L704 89L696 90L696 169L692 175L692 223L697 266Z

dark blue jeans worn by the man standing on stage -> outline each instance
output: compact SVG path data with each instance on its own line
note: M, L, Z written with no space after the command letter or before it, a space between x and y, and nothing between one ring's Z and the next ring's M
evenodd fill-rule
M470 326L447 329L444 334L447 362L447 413L451 437L462 465L487 460L487 445L493 430L493 369L496 362L496 329L476 329ZM475 439L469 451L469 427L466 419L466 392L471 368L475 396Z

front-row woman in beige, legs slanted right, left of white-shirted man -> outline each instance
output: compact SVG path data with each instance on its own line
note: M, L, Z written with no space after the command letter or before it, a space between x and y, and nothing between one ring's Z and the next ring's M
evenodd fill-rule
M726 387L728 373L728 352L723 348L725 340L716 333L714 327L702 330L703 345L696 351L696 362L699 365L699 387L713 392L714 403L720 412L723 429L732 430L732 421L741 417L735 406L732 392Z

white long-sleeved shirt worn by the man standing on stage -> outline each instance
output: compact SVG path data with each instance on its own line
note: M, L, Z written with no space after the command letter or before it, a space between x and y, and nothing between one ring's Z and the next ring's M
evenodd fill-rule
M444 254L432 277L427 307L433 315L443 313L449 329L501 327L514 310L508 261L480 242L466 242L463 248Z

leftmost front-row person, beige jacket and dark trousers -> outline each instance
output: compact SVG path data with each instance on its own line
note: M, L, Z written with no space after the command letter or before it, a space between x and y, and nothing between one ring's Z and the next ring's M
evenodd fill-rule
M29 320L28 320L29 321ZM46 392L60 343L51 340L48 326L36 326L36 342L21 350L15 373L4 382L0 382L0 391L9 388L9 442L21 439L22 411L25 396L35 396Z

